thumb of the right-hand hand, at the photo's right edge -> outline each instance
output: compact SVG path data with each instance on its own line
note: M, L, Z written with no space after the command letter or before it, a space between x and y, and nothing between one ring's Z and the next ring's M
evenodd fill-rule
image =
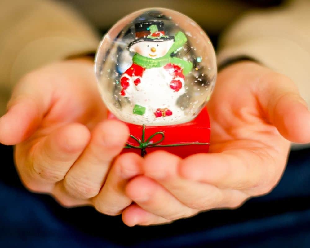
M289 78L268 73L257 87L258 99L269 121L286 139L297 143L310 142L310 112Z

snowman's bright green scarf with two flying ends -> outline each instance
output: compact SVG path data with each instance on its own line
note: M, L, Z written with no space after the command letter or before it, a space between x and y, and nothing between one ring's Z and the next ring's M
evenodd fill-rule
M148 57L144 57L139 53L135 53L135 55L132 58L132 62L146 69L154 67L162 67L168 63L176 64L183 69L183 74L187 75L193 69L193 63L190 61L185 61L183 59L170 56L172 52L182 47L186 43L186 41L187 38L185 34L182 32L178 32L175 35L175 42L173 42L172 46L170 47L169 51L166 53L165 56L162 56L157 59L151 59Z

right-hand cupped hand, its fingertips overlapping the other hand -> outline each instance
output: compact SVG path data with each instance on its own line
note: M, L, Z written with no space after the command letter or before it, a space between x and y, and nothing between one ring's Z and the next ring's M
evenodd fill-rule
M168 223L216 208L236 208L280 179L290 141L310 142L310 113L294 83L253 62L219 73L208 104L210 153L184 160L166 152L145 157L144 175L126 186L136 202L129 225Z

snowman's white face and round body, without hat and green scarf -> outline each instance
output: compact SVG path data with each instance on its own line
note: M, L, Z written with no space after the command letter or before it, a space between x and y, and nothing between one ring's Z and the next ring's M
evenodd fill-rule
M173 39L140 41L133 44L129 50L149 59L157 59L166 55L173 42ZM130 122L143 122L146 125L148 123L164 125L170 122L171 124L184 122L184 111L177 104L178 98L185 93L184 75L180 67L176 66L182 75L175 73L175 65L167 65L143 68L132 64L123 73L121 83L122 79L125 79L126 82L122 84L121 95L130 100L132 109L136 105L144 108L143 114L126 117L126 119L130 119ZM177 89L171 85L175 81L178 81Z

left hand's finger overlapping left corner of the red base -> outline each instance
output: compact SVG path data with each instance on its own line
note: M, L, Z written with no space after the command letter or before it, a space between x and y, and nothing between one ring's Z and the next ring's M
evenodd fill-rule
M87 199L100 191L111 162L124 148L128 127L116 120L98 124L91 141L64 178L64 187L72 196Z

